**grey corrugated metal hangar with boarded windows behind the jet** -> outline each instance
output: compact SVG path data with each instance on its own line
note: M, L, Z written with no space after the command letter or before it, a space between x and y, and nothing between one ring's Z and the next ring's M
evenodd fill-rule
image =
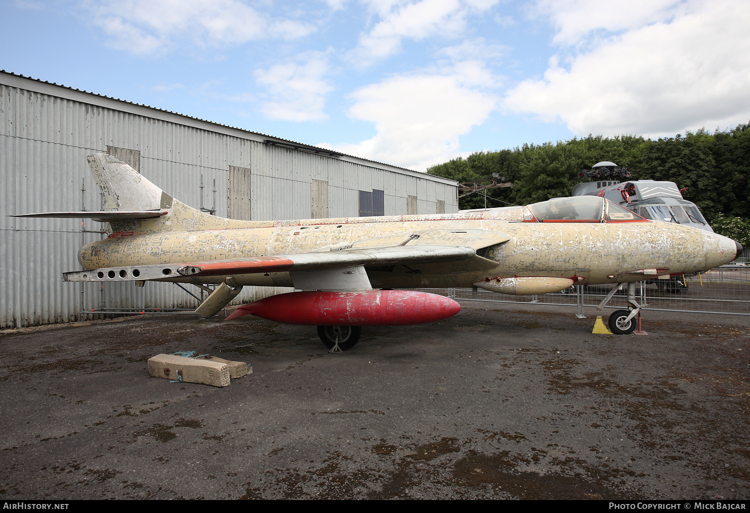
M233 219L458 212L454 180L376 163L0 71L0 327L73 321L92 309L194 308L168 283L62 282L109 225L17 219L99 210L86 163L109 153L192 207ZM243 291L239 302L272 293Z

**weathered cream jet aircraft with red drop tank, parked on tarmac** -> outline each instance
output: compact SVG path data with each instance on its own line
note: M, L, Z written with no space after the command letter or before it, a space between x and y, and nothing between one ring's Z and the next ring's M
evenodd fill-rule
M26 215L110 222L110 237L81 249L86 270L65 273L65 281L218 284L196 309L206 317L244 285L302 289L227 319L254 314L317 326L333 350L356 344L362 326L422 324L460 310L449 298L394 288L545 294L633 282L634 291L645 276L709 270L742 251L727 237L652 222L595 196L466 213L241 221L188 207L109 155L90 155L89 166L104 210ZM630 303L614 314L619 333L632 331L640 312L634 297Z

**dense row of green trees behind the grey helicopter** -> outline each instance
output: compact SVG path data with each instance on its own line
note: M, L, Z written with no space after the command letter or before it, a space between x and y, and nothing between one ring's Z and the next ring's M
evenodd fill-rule
M570 195L581 169L610 160L627 166L632 179L650 178L687 187L685 199L713 222L720 213L750 219L750 124L721 132L704 129L658 140L640 136L586 136L502 151L480 151L450 160L428 172L460 182L491 180L492 174L514 183L487 191L487 206L528 204ZM460 208L484 207L483 194L460 199Z

